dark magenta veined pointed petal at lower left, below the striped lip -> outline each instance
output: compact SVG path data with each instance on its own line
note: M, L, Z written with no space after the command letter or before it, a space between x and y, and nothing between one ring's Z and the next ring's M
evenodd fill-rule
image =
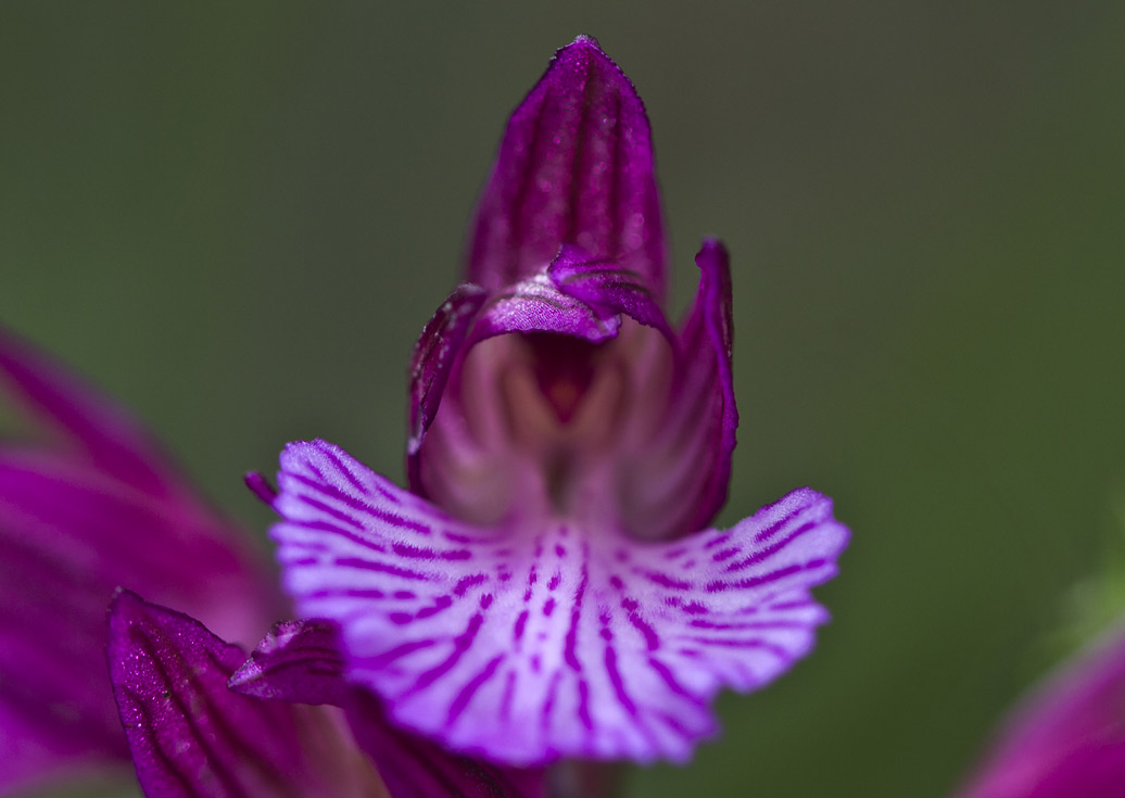
M227 690L245 655L188 616L122 591L108 657L146 798L388 796L330 710Z

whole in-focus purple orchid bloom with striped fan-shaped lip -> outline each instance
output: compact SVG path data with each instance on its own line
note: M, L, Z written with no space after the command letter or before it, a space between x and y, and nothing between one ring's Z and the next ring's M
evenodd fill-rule
M738 421L730 274L705 241L673 328L665 260L644 106L579 37L513 114L470 283L414 351L410 490L324 441L286 448L276 493L249 477L298 615L339 626L343 678L398 725L518 765L683 762L720 689L811 649L848 531L809 488L708 528Z

